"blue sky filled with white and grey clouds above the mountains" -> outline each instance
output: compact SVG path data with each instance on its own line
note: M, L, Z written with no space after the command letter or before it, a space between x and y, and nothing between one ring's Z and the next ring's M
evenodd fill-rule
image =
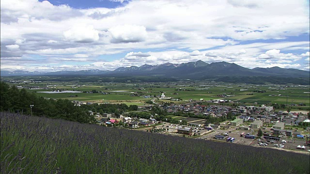
M309 0L1 0L1 71L226 61L310 70Z

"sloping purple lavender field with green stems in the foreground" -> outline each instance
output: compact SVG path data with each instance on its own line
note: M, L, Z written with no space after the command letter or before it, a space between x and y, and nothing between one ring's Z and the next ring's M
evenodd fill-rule
M62 119L1 116L1 174L309 174L310 156Z

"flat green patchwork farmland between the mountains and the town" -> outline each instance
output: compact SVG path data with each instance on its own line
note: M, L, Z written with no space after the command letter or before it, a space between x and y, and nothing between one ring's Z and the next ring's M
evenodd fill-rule
M260 104L299 104L306 107L310 105L309 86L281 86L281 85L245 85L228 84L216 82L170 82L170 83L80 83L80 82L32 82L28 84L11 85L23 87L49 87L52 89L76 90L90 92L93 90L99 93L62 93L47 94L40 93L47 89L28 89L38 96L68 99L83 102L141 102L144 103L159 97L162 92L165 96L182 99L182 101L155 100L155 102L172 102L176 104L187 103L188 101L209 100L230 100L233 102L260 105ZM258 92L258 91L263 91ZM109 94L101 94L106 92ZM139 96L131 96L136 93ZM77 95L77 97L75 97ZM149 96L150 98L143 98Z

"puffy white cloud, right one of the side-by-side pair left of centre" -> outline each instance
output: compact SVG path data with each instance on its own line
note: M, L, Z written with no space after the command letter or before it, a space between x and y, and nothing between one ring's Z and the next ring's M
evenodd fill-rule
M136 43L145 41L147 32L143 26L122 25L115 26L108 31L111 33L112 43Z

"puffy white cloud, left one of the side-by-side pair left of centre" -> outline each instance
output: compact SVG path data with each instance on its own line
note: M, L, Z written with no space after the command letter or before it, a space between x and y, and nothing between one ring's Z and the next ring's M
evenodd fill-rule
M93 26L74 26L63 32L66 40L79 43L92 43L99 40L99 32Z

